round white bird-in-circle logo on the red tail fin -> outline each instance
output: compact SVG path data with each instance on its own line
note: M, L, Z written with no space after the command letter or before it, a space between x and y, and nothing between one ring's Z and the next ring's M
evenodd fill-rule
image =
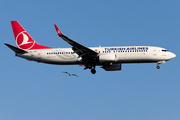
M21 49L30 49L34 46L35 41L26 31L23 31L16 36L16 44Z

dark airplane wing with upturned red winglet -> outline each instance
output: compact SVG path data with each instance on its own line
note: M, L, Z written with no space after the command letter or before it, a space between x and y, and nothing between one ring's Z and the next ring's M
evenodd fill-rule
M68 38L67 36L63 35L62 32L59 30L59 28L57 27L57 25L55 25L55 29L57 34L59 35L59 37L61 37L63 40L65 40L67 43L69 43L72 47L72 50L74 51L74 53L78 54L79 57L82 57L82 60L86 60L88 58L95 58L98 56L98 53L92 49L89 49L77 42L75 42L74 40L71 40L70 38Z

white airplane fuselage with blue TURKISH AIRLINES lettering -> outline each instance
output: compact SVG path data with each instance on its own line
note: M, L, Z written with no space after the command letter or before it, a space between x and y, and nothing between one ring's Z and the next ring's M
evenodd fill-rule
M118 46L118 47L90 47L96 51L99 60L96 65L109 63L151 63L168 61L176 55L161 47L152 46ZM71 48L54 48L28 50L26 54L16 54L19 57L49 64L72 65L86 64Z

